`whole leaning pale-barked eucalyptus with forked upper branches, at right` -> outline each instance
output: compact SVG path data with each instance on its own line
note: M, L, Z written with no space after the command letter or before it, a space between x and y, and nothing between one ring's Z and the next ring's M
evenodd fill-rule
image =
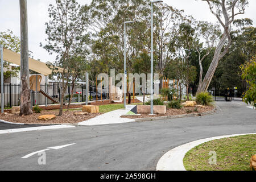
M212 63L208 69L204 80L198 88L197 93L206 92L209 88L210 82L212 81L213 75L218 67L219 61L228 53L232 38L230 31L232 31L232 23L235 17L245 13L245 7L248 4L247 0L201 0L205 1L209 5L210 12L216 16L218 23L223 28L222 36L218 42Z

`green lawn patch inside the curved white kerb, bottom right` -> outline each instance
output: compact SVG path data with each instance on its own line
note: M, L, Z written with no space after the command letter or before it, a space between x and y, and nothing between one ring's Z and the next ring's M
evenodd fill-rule
M217 153L217 165L210 165L210 151ZM224 138L203 143L185 155L188 171L250 171L250 158L256 154L256 135Z

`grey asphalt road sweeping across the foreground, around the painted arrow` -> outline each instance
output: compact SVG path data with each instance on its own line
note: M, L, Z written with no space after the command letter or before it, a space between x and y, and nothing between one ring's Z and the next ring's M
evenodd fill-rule
M82 126L0 135L0 170L155 170L167 151L193 140L256 133L256 111L242 102L218 102L222 112L195 118ZM48 147L46 165L39 156ZM255 149L256 151L256 149Z

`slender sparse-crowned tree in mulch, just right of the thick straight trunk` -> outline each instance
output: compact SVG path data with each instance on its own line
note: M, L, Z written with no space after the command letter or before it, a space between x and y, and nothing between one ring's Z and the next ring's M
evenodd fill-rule
M56 61L50 64L55 71L56 67L63 68L57 73L57 78L62 82L60 113L63 114L64 95L68 88L71 76L71 57L76 54L77 44L86 35L86 17L82 18L81 7L75 0L56 0L55 5L49 5L49 22L46 23L47 44L44 48L57 54ZM83 12L84 13L84 12Z

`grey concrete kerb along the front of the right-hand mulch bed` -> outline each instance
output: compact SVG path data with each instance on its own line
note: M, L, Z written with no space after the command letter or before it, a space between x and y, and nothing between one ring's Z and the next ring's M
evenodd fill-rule
M198 116L204 116L204 115L219 113L219 112L221 112L221 108L216 105L213 110L210 110L210 111L207 111L207 112L204 112L204 113L183 114L183 115L166 115L166 116L162 116L162 117L138 118L138 119L134 119L134 120L135 120L135 122L139 122L139 121L158 121L158 120L164 120L164 119L198 117ZM122 116L127 116L127 115L122 115Z

